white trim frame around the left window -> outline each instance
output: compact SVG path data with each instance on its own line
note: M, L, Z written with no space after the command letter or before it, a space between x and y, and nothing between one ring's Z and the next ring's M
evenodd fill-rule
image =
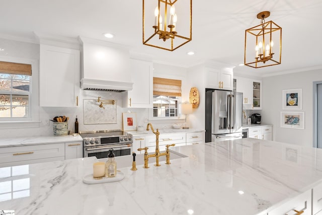
M39 64L38 59L0 56L0 61L31 64L32 75L30 76L29 88L29 117L6 117L0 118L0 128L26 128L39 127Z

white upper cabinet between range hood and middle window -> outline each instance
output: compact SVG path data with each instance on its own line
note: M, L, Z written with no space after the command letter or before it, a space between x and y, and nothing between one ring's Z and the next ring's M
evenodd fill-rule
M123 92L123 107L153 107L153 64L143 60L130 60L133 90Z

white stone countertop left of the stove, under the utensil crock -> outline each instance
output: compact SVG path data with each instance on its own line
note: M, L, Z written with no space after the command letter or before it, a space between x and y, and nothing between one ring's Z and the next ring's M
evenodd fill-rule
M66 136L30 136L30 137L18 137L18 138L1 138L0 148L4 147L21 147L32 146L40 144L56 144L58 142L76 142L83 141L83 138L77 134Z

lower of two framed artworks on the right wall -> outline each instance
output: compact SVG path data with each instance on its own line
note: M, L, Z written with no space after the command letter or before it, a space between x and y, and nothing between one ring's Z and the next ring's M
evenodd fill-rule
M281 127L304 129L304 112L281 112Z

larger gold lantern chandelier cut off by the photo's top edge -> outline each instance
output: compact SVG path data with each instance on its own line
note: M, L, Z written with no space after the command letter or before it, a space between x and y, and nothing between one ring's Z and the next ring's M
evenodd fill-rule
M154 19L153 11L150 10L152 8L155 8ZM176 9L179 11L179 16L176 14ZM192 0L190 5L183 0L157 0L156 7L155 0L143 0L144 45L174 51L191 41L191 26ZM145 34L150 36L145 39Z

